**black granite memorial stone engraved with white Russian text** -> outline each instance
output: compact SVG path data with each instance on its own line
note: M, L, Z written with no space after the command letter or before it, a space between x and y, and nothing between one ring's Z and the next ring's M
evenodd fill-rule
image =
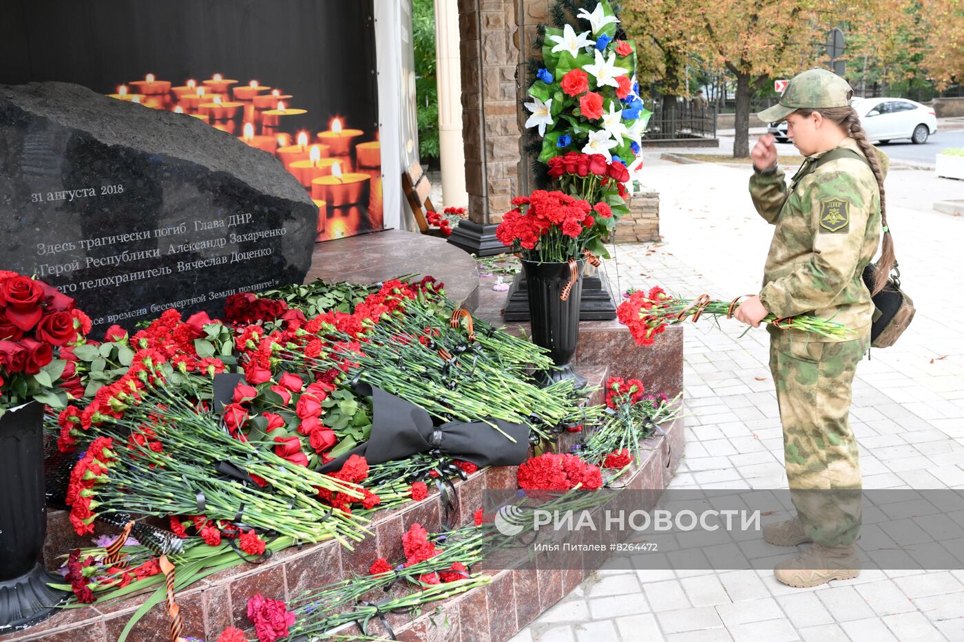
M59 287L94 334L302 282L317 212L274 156L190 116L0 86L0 269Z

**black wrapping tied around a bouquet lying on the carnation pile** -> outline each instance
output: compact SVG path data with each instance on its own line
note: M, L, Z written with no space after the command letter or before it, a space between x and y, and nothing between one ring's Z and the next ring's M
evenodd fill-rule
M356 393L372 398L371 435L368 441L319 468L320 472L341 469L352 455L362 456L372 465L438 451L444 457L478 467L518 466L528 456L529 427L525 424L490 419L513 442L485 421L436 424L423 408L359 381L359 375L352 379L352 386Z

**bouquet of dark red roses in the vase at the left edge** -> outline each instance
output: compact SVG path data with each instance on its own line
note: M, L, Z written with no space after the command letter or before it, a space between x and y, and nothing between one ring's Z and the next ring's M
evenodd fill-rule
M75 373L57 357L90 330L91 319L57 288L0 271L0 415L31 399L64 407Z

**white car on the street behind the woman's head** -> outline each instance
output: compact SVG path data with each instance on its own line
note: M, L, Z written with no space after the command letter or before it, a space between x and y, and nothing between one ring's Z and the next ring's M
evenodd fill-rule
M890 143L909 138L917 145L937 131L937 115L933 108L906 98L854 98L851 103L870 141ZM770 122L766 131L779 143L787 143L787 121Z

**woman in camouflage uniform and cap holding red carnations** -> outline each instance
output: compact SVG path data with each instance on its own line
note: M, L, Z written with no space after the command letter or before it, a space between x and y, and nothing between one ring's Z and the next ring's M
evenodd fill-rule
M883 230L876 293L887 281L894 248L884 218L887 157L870 146L849 106L852 94L843 78L810 69L790 80L780 104L759 115L764 121L787 120L793 145L808 157L789 187L772 136L761 138L751 152L750 195L775 228L763 289L736 310L736 318L758 327L768 312L815 314L853 331L840 340L767 326L797 518L766 524L763 537L779 546L814 543L774 568L777 579L791 586L860 573L853 543L861 524L862 485L848 415L857 362L870 348L874 310L862 275Z

